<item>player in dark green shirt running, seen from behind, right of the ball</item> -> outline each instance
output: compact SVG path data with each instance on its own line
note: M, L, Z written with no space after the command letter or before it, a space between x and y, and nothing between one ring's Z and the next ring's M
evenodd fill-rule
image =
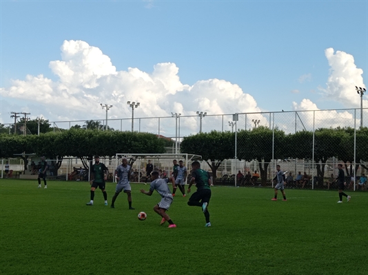
M188 201L188 206L200 206L205 214L206 224L205 227L211 226L209 221L208 203L211 199L211 178L209 173L201 169L201 164L199 162L192 163L192 179L190 179L190 184L188 186L187 192L190 193L190 188L196 183L196 192L192 194Z

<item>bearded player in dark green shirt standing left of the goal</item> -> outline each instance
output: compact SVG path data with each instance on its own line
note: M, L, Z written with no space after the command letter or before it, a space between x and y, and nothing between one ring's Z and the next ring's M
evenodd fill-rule
M100 188L105 199L105 206L108 205L108 193L105 191L105 180L108 179L109 169L105 164L100 162L100 157L96 155L94 157L94 164L91 168L91 200L85 203L88 206L93 206L94 190Z

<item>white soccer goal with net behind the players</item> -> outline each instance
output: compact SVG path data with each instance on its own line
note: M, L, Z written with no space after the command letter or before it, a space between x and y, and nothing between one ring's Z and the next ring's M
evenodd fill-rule
M115 155L115 161L116 161L116 167L121 164L121 158L126 157L128 160L128 164L131 166L130 173L132 171L138 172L138 182L141 182L141 178L145 177L145 167L148 163L148 160L151 161L154 168L158 168L161 170L167 171L167 175L170 175L172 172L172 161L176 159L178 162L179 160L182 160L184 163L184 166L188 168L189 162L201 159L201 155L193 155L193 154L187 154L187 153L177 153L177 154L159 154L159 153L116 153ZM190 170L188 168L188 170ZM115 181L115 178L114 178Z

